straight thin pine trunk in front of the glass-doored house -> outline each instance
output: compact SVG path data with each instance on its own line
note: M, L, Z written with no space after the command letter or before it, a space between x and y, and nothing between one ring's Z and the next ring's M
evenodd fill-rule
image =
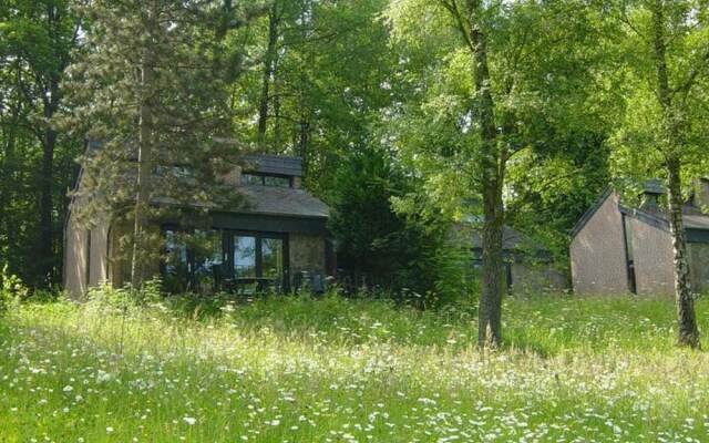
M150 30L148 30L150 32ZM134 288L140 288L145 279L145 253L147 240L147 222L150 210L150 197L152 192L153 172L153 61L150 54L151 49L145 49L143 65L141 66L141 83L143 96L140 110L140 138L137 152L137 184L135 196L135 215L133 226L133 258L131 262L131 284Z

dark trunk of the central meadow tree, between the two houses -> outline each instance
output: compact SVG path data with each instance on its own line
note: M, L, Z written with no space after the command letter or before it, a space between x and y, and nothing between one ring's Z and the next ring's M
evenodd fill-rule
M474 23L474 22L473 22ZM485 35L475 24L470 32L473 51L476 111L483 141L483 287L477 310L477 344L502 344L502 233L504 207L502 185L504 157L497 143L495 109L490 91Z

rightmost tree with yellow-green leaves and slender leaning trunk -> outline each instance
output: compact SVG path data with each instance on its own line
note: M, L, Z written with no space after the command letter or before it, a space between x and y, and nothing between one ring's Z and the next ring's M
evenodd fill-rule
M699 347L687 264L682 187L707 169L709 10L701 1L623 2L626 114L615 135L616 171L667 181L678 343Z

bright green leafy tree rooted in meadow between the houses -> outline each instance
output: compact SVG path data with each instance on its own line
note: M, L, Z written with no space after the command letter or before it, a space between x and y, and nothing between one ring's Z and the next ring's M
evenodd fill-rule
M410 157L420 171L432 172L445 189L463 187L441 192L443 198L481 202L479 344L496 347L502 342L503 195L512 194L507 167L538 148L545 128L558 125L561 115L589 119L583 85L594 80L589 68L597 54L580 49L592 48L595 16L582 2L476 0L400 1L388 16L395 41L409 51L402 76L418 78L409 105L391 112L400 122L394 144L413 147ZM436 173L441 167L449 172Z

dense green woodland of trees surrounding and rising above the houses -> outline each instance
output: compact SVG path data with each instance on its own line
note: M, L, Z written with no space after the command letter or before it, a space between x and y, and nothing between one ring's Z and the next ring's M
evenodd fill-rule
M205 159L297 155L333 209L340 265L393 290L460 291L444 239L479 219L479 339L499 342L502 225L565 267L569 230L608 184L659 177L680 341L697 346L680 207L709 158L707 20L699 0L4 0L0 268L60 285L82 163L121 174L137 155L146 178L162 144L208 178L219 165ZM96 138L110 148L86 157ZM136 202L121 212L134 253L146 189L102 194Z

